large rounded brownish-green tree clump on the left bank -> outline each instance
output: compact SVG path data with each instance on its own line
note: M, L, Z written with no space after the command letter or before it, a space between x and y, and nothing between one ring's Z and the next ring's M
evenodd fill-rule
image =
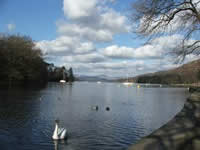
M19 35L0 37L0 82L46 80L46 63L31 38Z

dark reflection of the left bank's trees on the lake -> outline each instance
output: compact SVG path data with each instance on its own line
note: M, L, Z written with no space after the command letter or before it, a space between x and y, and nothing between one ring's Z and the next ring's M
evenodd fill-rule
M13 88L0 91L0 127L20 127L37 114L41 101L40 89Z

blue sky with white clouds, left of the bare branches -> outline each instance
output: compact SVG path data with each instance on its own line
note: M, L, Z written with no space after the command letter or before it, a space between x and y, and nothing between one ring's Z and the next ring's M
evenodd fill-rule
M46 61L72 67L76 75L136 76L176 67L167 54L182 36L143 45L132 32L133 1L2 0L0 32L29 35Z

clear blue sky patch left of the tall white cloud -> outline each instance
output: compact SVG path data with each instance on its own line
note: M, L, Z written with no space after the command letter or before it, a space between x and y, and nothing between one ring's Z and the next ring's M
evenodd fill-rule
M34 40L54 39L56 20L63 17L62 0L6 0L2 4L0 31L15 24L11 33L31 36Z

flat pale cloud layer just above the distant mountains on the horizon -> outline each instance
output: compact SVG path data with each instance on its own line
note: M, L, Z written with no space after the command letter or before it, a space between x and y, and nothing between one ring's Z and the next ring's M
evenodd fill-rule
M75 74L84 74L84 75L107 75L110 77L120 77L125 74L130 76L135 76L141 74L143 70L140 68L145 67L143 61L129 62L126 65L123 61L118 62L97 62L97 63L71 63L66 62L66 66L72 66Z

